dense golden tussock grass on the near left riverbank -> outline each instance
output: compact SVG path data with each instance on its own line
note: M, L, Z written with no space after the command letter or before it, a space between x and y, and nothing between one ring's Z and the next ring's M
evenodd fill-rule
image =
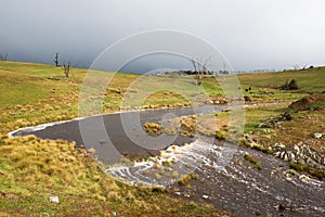
M0 145L0 156L2 164L11 168L5 173L14 175L12 179L2 180L5 183L41 182L49 188L65 188L70 194L101 192L99 188L118 191L114 180L103 178L105 175L89 154L76 149L74 142L39 140L34 136L5 138ZM104 180L102 186L93 186L100 180ZM32 192L32 184L28 190ZM15 186L11 186L11 191L16 193Z

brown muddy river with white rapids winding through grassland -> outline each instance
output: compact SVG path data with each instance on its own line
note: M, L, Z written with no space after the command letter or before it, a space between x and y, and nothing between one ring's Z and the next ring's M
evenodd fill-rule
M213 106L213 111L238 107L243 105ZM145 122L157 123L164 118L209 112L209 107L203 106L195 111L188 107L141 111L138 114L142 125ZM136 112L125 114L133 113ZM324 180L295 174L288 170L287 162L271 154L234 146L211 138L178 136L172 140L173 145L168 143L159 150L144 149L136 145L125 132L121 113L23 128L10 136L32 133L43 139L64 139L84 144L80 122L87 124L88 140L92 141L96 151L100 150L100 158L104 162L114 162L110 161L112 153L104 149L109 144L122 155L148 157L134 164L110 164L106 168L107 174L123 181L135 186L166 187L174 196L205 201L239 216L325 216ZM101 123L104 123L109 141L98 133L98 125ZM136 135L136 129L134 131ZM184 143L187 144L183 145ZM260 165L245 161L247 155ZM183 176L192 176L191 187L178 182Z

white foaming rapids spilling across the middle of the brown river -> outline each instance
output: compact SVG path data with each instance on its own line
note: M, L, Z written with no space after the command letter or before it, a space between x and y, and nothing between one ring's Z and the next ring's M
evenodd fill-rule
M161 151L159 156L132 166L115 166L106 169L106 173L131 184L166 187L194 170L202 170L202 165L224 169L209 157L210 154L222 157L222 148L218 148L220 152L216 152L212 146L214 145L200 140L183 146L171 145Z

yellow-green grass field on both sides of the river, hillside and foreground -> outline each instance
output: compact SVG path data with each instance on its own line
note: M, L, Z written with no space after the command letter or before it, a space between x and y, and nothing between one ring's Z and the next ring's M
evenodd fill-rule
M65 78L62 68L54 66L0 61L0 216L109 216L114 212L119 216L226 215L206 204L170 197L159 189L135 189L115 181L99 168L89 153L76 148L74 143L40 140L32 136L14 139L6 137L9 131L20 127L77 117L86 73L87 69L72 68L70 77ZM116 74L105 93L104 112L119 110L128 87L131 86L134 93L139 92L136 88L143 86L132 86L139 77ZM291 102L325 90L325 68L247 74L238 75L238 79L244 94L252 103ZM296 79L299 89L281 90L280 87L287 79ZM150 80L155 82L156 79L151 77ZM164 89L164 84L169 80L161 78L159 86L154 87ZM224 97L211 76L203 78L203 87L212 99ZM246 91L249 87L251 90ZM190 105L188 100L178 91L187 92L199 101L200 95L195 93L195 88L176 87L176 92L160 90L146 98L141 107ZM257 125L269 116L283 113L287 105L247 110L245 132L262 132L263 129L257 129ZM221 119L225 116L219 114ZM316 116L324 117L324 114L321 112ZM223 126L222 122L219 123L220 127ZM290 124L287 125L290 127ZM311 131L307 133L310 137ZM50 203L48 199L51 195L57 195L61 203Z

